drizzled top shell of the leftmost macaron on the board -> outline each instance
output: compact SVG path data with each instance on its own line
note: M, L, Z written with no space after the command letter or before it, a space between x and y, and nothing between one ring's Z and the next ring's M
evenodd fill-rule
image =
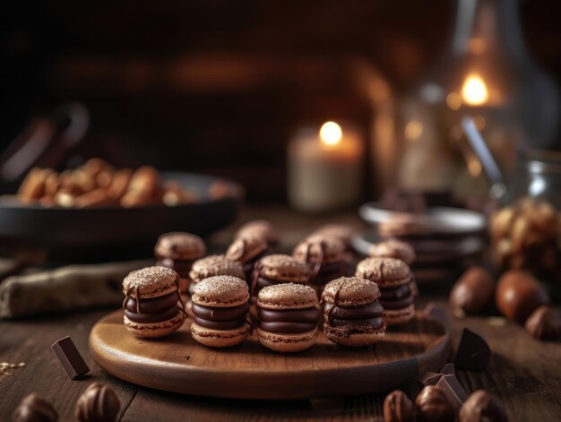
M136 298L136 292L142 299L168 295L177 290L179 276L167 267L146 267L131 271L123 280L123 293Z

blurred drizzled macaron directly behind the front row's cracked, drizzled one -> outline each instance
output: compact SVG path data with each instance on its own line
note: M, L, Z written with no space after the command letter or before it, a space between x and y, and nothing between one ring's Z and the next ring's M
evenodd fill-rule
M312 284L321 287L331 280L347 274L349 254L338 237L313 235L306 237L295 248L292 256L302 263L309 263L315 276Z

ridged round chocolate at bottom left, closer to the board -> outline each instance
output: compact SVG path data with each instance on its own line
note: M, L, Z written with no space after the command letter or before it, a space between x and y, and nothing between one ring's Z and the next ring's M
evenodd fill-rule
M121 402L107 385L92 383L76 401L74 415L79 422L115 422Z

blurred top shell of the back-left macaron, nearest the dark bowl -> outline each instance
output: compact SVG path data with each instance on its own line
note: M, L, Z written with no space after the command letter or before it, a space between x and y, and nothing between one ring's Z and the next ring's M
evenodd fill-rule
M206 254L206 245L201 237L191 233L175 231L158 237L154 254L157 258L178 261L193 261Z

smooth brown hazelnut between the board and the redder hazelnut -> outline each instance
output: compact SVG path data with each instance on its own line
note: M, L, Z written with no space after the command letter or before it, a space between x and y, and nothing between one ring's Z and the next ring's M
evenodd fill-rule
M481 267L473 267L462 274L450 293L450 304L466 314L478 314L493 299L495 290L491 274Z

